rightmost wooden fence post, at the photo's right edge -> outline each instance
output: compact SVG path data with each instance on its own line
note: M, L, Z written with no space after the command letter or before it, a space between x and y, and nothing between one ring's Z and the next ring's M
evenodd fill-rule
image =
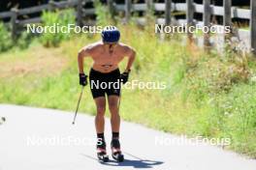
M252 52L256 55L256 1L251 0L251 18L250 18L250 43Z

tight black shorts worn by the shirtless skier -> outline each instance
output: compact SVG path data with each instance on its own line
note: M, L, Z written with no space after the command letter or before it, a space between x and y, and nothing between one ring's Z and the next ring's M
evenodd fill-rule
M115 95L120 96L120 71L100 72L93 69L89 73L90 89L93 99Z

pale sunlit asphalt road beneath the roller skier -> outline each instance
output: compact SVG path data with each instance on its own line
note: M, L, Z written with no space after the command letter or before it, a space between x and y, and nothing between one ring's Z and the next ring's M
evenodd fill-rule
M91 116L79 114L73 126L73 113L0 104L0 117L6 118L0 125L0 170L256 169L255 159L126 122L120 139L125 161L100 163ZM109 120L106 126L110 151Z

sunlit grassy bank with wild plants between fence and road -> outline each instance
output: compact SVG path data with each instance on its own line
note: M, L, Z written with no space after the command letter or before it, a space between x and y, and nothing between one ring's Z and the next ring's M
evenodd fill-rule
M122 119L176 134L229 137L229 149L256 157L256 83L252 80L256 64L252 58L233 53L205 54L175 40L160 42L150 27L142 30L128 25L120 26L120 30L121 42L137 50L130 80L167 85L165 90L123 90ZM0 69L0 102L74 111L80 95L77 52L81 46L99 39L99 35L80 35L57 48L37 44L27 50L2 53L2 66L12 69L17 64L27 66L26 63L32 71L1 77L6 71ZM36 70L34 58L48 55L54 62L46 62ZM23 63L16 63L22 59ZM67 65L57 71L51 66L65 62ZM86 72L91 62L85 60ZM124 66L120 65L121 70ZM88 87L80 111L95 115Z

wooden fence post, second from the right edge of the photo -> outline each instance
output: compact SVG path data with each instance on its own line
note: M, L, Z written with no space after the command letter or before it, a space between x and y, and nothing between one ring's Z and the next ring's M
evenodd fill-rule
M223 25L225 27L229 26L232 29L232 20L231 20L231 0L223 0L224 7L224 18ZM225 40L229 41L231 34L225 34Z

